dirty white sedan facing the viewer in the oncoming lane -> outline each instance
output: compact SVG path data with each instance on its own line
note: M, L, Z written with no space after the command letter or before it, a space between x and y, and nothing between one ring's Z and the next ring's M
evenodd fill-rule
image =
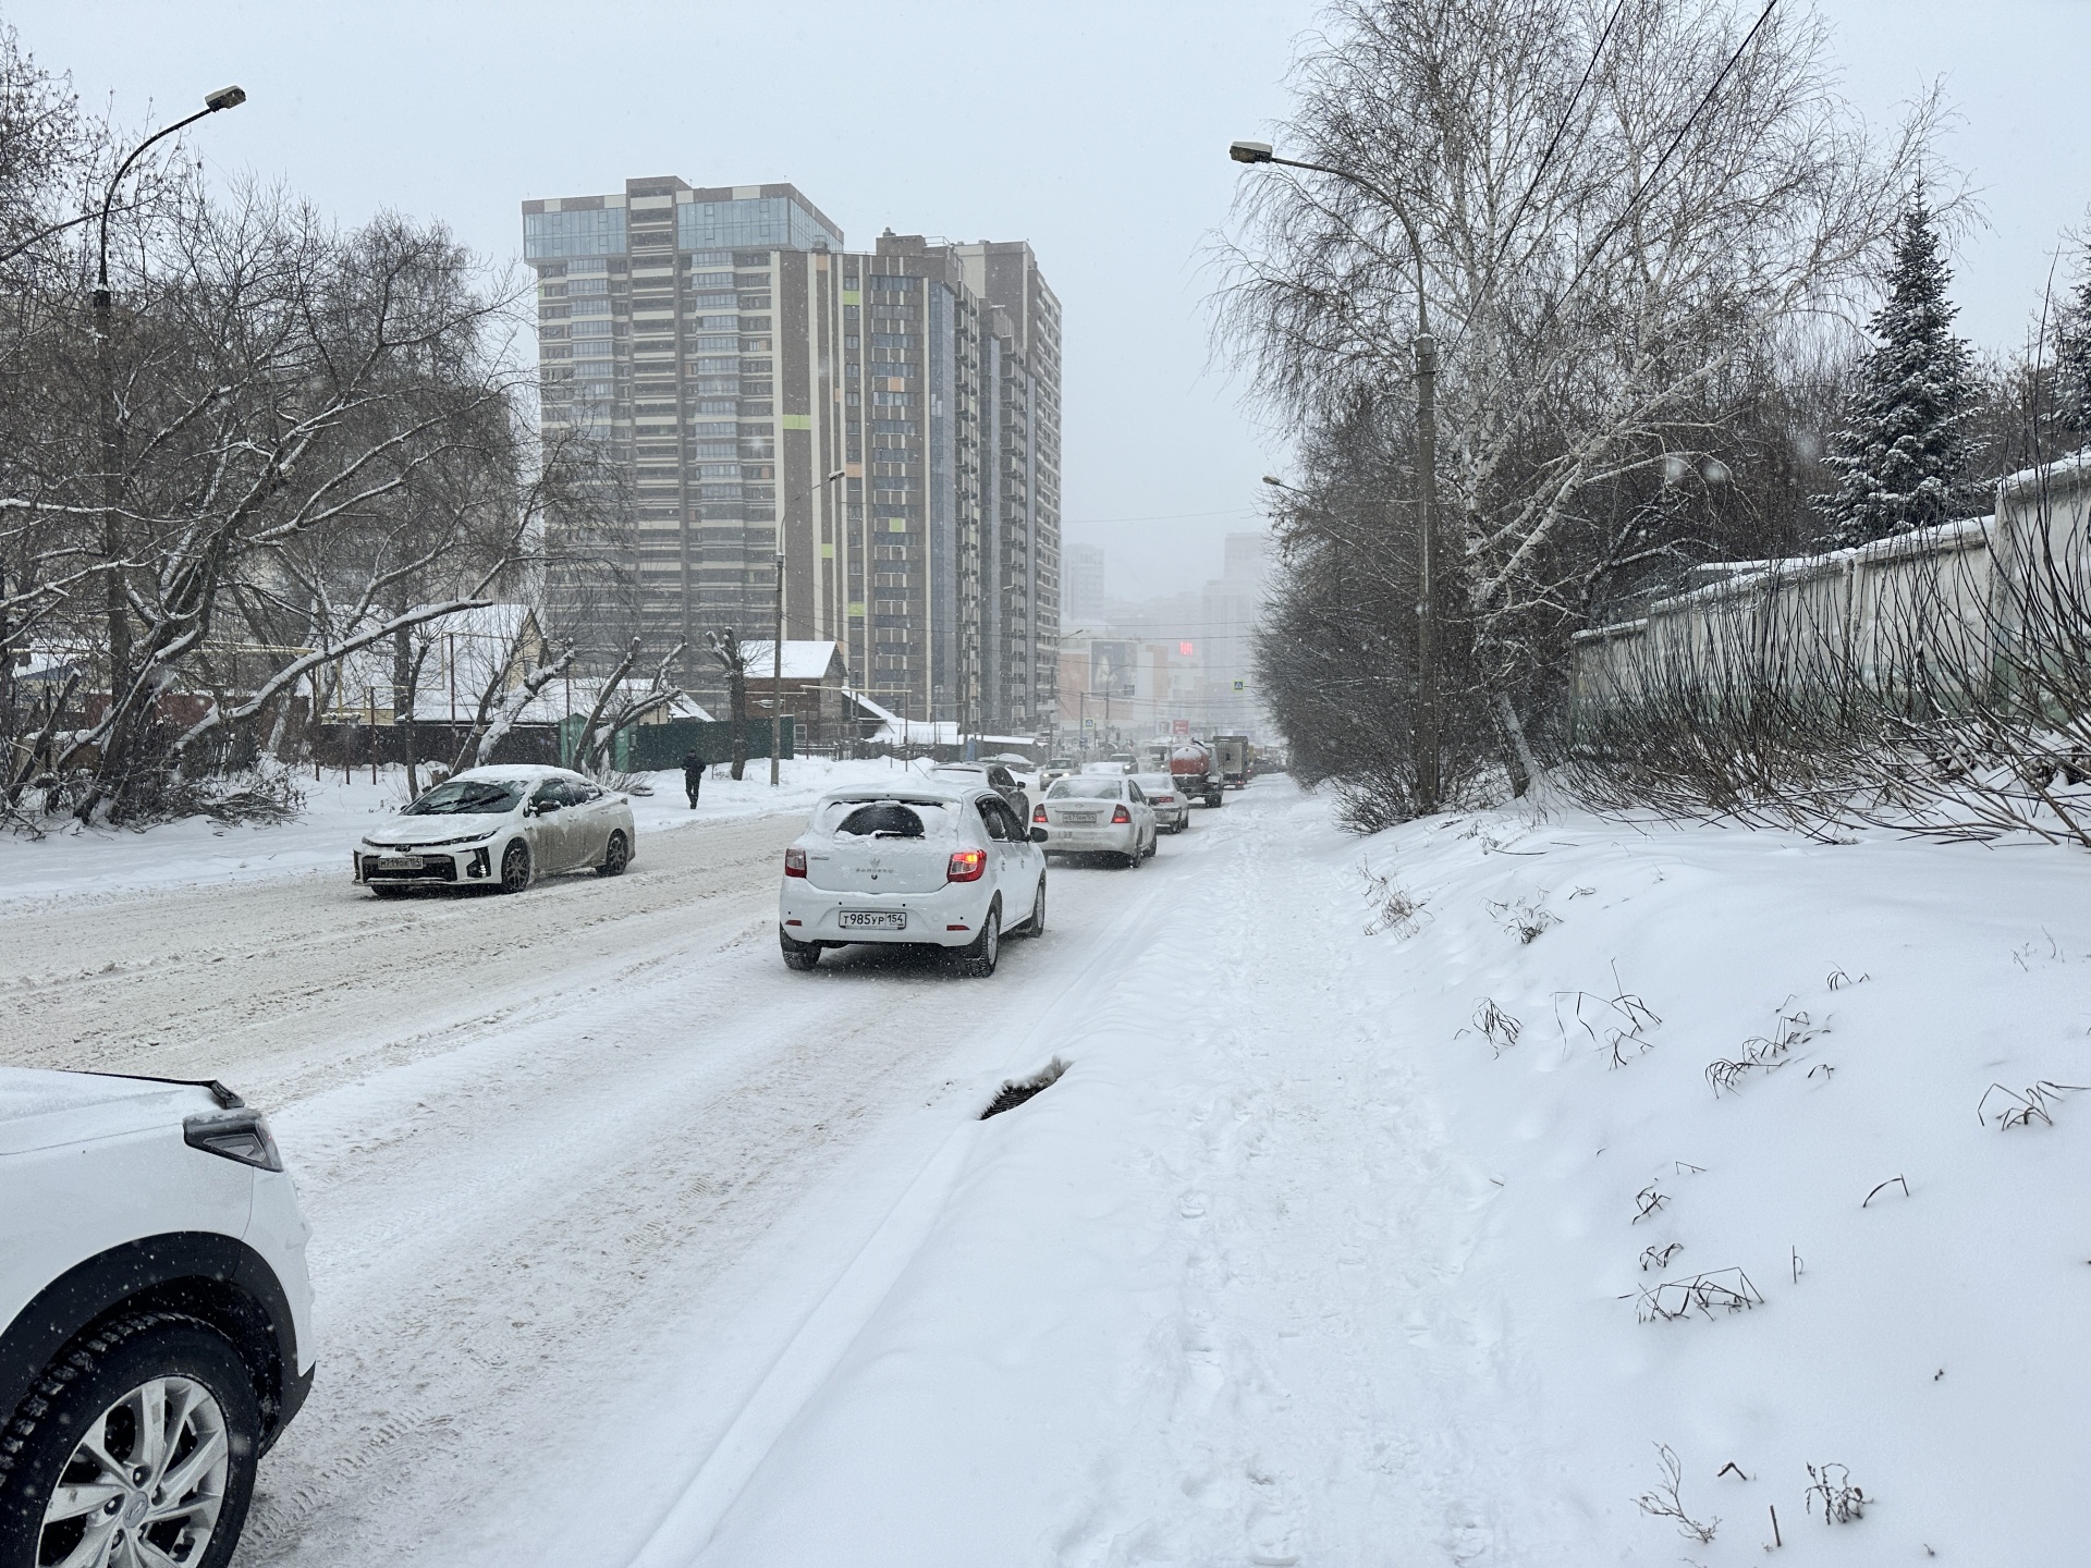
M355 880L378 897L410 886L498 886L539 876L617 876L638 853L631 799L565 767L473 767L372 828Z

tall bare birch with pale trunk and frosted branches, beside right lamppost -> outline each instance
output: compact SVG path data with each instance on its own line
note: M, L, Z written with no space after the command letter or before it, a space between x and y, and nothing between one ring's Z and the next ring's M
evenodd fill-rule
M1296 67L1284 151L1342 174L1244 186L1219 343L1294 433L1401 397L1414 226L1445 337L1432 608L1506 771L1593 598L1673 552L1664 477L1717 458L1721 391L1880 263L1938 111L1878 144L1823 56L1815 19L1754 4L1342 0Z

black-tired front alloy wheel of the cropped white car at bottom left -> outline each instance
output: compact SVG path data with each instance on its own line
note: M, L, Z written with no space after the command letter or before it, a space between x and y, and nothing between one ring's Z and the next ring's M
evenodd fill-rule
M142 1407L165 1413L171 1399L192 1403L174 1443L163 1436L155 1453L140 1432ZM130 1463L109 1476L88 1443L119 1463L136 1459L146 1486L134 1484ZM224 1568L247 1522L259 1453L253 1371L217 1330L180 1313L105 1323L61 1353L0 1428L0 1568L67 1562L96 1526L142 1530L159 1560ZM169 1474L186 1482L174 1497L153 1484ZM115 1516L46 1522L61 1486L96 1478L113 1486Z

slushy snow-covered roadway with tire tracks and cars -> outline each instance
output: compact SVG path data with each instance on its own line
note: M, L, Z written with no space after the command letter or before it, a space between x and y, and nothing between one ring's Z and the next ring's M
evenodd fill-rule
M1056 868L1052 930L987 983L878 953L788 974L792 815L516 899L297 874L8 905L4 1060L220 1077L276 1123L322 1365L240 1564L615 1562L730 1428L761 1455L820 1369L805 1336L772 1365L807 1313L853 1261L876 1294L859 1254L903 1261L953 1129L1255 815L1200 813L1138 874Z

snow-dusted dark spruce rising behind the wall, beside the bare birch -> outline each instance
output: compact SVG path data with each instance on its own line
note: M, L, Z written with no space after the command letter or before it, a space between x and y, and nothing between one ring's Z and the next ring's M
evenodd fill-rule
M1888 301L1871 320L1878 347L1859 364L1846 422L1830 435L1825 464L1838 487L1815 508L1840 546L1947 523L1972 504L1980 387L1974 353L1953 337L1938 226L1920 190L1903 211L1888 270Z

